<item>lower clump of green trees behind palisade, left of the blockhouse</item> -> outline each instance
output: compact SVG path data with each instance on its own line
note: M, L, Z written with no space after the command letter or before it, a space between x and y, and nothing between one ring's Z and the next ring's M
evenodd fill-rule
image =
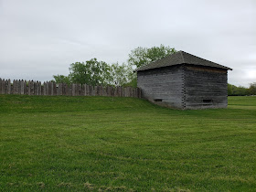
M97 59L87 60L85 62L75 62L70 64L69 76L54 75L54 81L57 83L80 83L92 86L112 85L123 86L133 81L135 74L130 65L119 65L113 63L107 64Z

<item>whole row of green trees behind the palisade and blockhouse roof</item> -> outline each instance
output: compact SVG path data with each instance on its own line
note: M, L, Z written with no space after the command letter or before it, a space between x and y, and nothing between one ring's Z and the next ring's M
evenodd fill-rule
M84 62L70 64L69 75L54 75L55 82L60 83L80 83L92 86L131 86L136 87L135 69L163 59L167 55L176 53L175 48L160 45L153 48L134 48L128 56L127 62L108 64L98 59L90 59Z

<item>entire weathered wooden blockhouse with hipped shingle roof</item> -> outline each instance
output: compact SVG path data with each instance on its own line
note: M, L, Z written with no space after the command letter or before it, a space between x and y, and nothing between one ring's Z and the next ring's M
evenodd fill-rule
M226 108L229 69L178 51L137 69L137 85L145 99L159 105L182 110Z

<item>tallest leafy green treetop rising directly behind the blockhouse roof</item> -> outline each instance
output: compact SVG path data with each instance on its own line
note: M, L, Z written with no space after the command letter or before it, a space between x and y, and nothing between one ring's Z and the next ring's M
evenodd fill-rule
M153 48L138 47L133 49L129 54L128 63L135 68L140 68L173 53L176 53L175 48L165 47L162 44L159 47Z

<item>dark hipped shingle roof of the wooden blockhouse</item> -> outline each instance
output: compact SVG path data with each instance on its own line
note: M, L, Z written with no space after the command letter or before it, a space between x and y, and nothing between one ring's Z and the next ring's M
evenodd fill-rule
M165 57L164 59L159 59L159 60L156 60L155 62L149 63L148 65L142 66L136 70L139 71L139 70L163 68L163 67L180 65L180 64L207 66L207 67L212 67L212 68L232 70L228 67L219 65L218 63L209 61L207 59L198 58L197 56L191 55L182 50L180 50L174 54L171 54L171 55Z

